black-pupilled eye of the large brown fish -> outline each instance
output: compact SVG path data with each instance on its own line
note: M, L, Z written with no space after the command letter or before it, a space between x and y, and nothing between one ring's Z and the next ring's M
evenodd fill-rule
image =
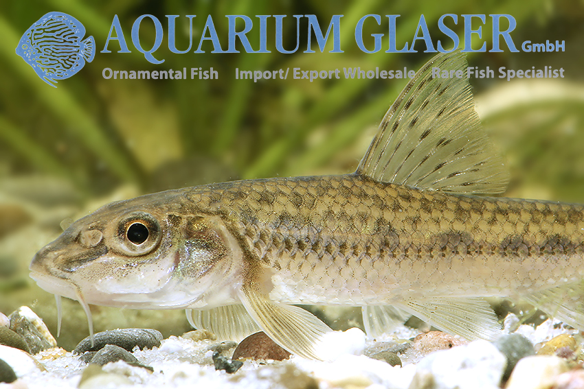
M146 255L158 247L161 236L160 224L153 215L131 212L118 219L111 248L131 257Z

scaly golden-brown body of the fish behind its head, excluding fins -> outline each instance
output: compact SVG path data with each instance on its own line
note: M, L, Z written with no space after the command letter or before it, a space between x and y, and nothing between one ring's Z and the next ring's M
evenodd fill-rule
M295 200L299 188L322 195L306 207ZM335 298L335 304L390 305L419 297L420 290L521 295L547 288L550 280L584 276L584 207L578 204L448 195L357 175L239 181L211 190L221 200L204 189L187 197L234 226L253 253L249 261L282 273L278 279L286 283L270 294L282 303L330 304L358 266L361 283L350 294L360 298ZM324 276L315 271L323 268L319 263ZM330 290L323 279L333 283ZM312 292L315 284L324 285L326 298ZM388 292L376 289L381 285Z

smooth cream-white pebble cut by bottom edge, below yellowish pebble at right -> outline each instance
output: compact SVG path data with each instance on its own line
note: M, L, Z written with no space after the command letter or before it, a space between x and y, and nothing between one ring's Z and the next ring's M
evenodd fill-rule
M565 359L555 355L525 357L515 365L506 389L551 388L555 377L568 370Z

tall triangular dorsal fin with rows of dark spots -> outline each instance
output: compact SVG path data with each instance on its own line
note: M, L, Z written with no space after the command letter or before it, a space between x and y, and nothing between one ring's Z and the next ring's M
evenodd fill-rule
M433 67L453 77L432 78ZM383 117L357 174L451 193L505 191L509 174L475 112L466 69L460 51L429 60Z

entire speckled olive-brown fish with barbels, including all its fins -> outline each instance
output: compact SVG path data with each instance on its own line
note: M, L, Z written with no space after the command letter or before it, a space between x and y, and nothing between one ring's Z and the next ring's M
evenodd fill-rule
M584 207L477 196L504 191L508 174L468 80L431 77L466 66L460 52L427 62L353 174L115 202L39 251L31 276L88 317L88 304L186 308L220 338L261 329L315 359L332 330L293 304L363 307L370 335L415 315L473 339L500 333L483 300L500 296L584 329Z

